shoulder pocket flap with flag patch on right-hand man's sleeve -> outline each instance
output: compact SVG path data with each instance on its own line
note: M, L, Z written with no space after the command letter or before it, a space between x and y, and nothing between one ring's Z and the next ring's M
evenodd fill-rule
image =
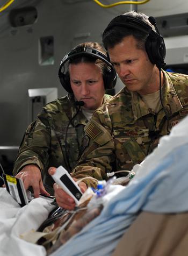
M110 132L95 120L90 120L85 126L85 133L100 146L103 146L108 141L112 140Z

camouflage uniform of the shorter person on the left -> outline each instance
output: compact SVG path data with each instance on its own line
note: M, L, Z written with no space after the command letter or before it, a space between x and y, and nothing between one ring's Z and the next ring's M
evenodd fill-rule
M110 95L105 95L104 102L110 97ZM76 111L74 99L68 96L56 99L44 106L37 119L28 126L25 132L15 161L14 175L24 166L34 164L41 169L44 183L52 187L54 181L47 173L49 167L62 165L70 172L65 160L64 139L69 120L73 118ZM86 123L88 120L82 111L79 111L69 125L67 152L71 169L75 167L80 151L82 151L81 144Z

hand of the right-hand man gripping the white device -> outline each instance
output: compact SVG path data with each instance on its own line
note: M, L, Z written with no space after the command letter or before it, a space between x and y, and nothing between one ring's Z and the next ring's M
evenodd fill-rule
M48 170L48 173L50 175L53 175L56 171L55 167L50 167ZM77 179L73 178L75 181ZM87 189L87 186L84 182L79 183L79 187L81 188L81 191L84 193ZM56 198L57 204L67 210L73 210L75 208L75 201L74 199L69 196L57 183L54 183L54 195Z

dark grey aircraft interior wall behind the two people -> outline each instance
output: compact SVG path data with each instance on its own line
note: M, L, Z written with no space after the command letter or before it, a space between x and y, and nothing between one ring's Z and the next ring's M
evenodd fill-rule
M4 2L0 1L0 5ZM105 4L112 2L117 1L105 1ZM37 10L35 22L13 27L11 10L28 7ZM28 96L28 89L57 88L58 97L66 95L57 76L63 56L80 42L101 42L102 32L110 20L130 9L135 10L135 6L126 4L105 9L92 0L15 0L0 12L0 162L5 168L12 166L21 138L31 121L32 99ZM151 0L137 9L161 17L184 13L188 10L188 2L165 0L164 4L163 0ZM27 17L20 16L19 19L24 23ZM41 47L44 47L44 55ZM116 92L121 88L118 80ZM40 111L43 102L40 102L40 97L37 99L39 102L35 106Z

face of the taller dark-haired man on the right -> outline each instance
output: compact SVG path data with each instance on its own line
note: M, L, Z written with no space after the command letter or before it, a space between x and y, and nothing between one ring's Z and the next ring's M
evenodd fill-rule
M128 90L139 94L150 94L159 89L158 69L153 65L143 49L138 49L137 41L129 35L113 48L109 48L111 63Z

